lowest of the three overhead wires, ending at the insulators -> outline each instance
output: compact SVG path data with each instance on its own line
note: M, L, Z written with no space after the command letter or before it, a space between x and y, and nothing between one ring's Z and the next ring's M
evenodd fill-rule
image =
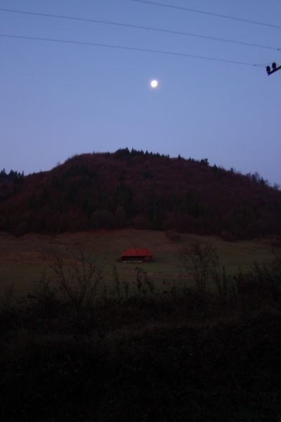
M212 61L218 61L218 62L224 62L224 63L233 63L233 64L237 64L237 65L263 67L263 65L256 65L254 63L240 62L240 61L237 61L237 60L227 60L227 59L223 59L223 58L197 56L197 55L194 55L194 54L175 53L173 51L141 49L141 48L138 48L138 47L117 46L117 45L113 45L113 44L101 44L101 43L87 42L87 41L72 41L72 40L66 40L66 39L41 38L41 37L25 37L23 35L10 35L10 34L0 34L0 37L28 39L28 40L34 40L34 41L52 41L52 42L61 42L61 43L65 43L65 44L81 44L81 45L86 45L86 46L98 46L98 47L106 47L106 48L111 48L111 49L143 51L143 52L147 52L147 53L166 54L166 55L169 55L169 56L200 58L200 59L203 59L203 60L212 60Z

